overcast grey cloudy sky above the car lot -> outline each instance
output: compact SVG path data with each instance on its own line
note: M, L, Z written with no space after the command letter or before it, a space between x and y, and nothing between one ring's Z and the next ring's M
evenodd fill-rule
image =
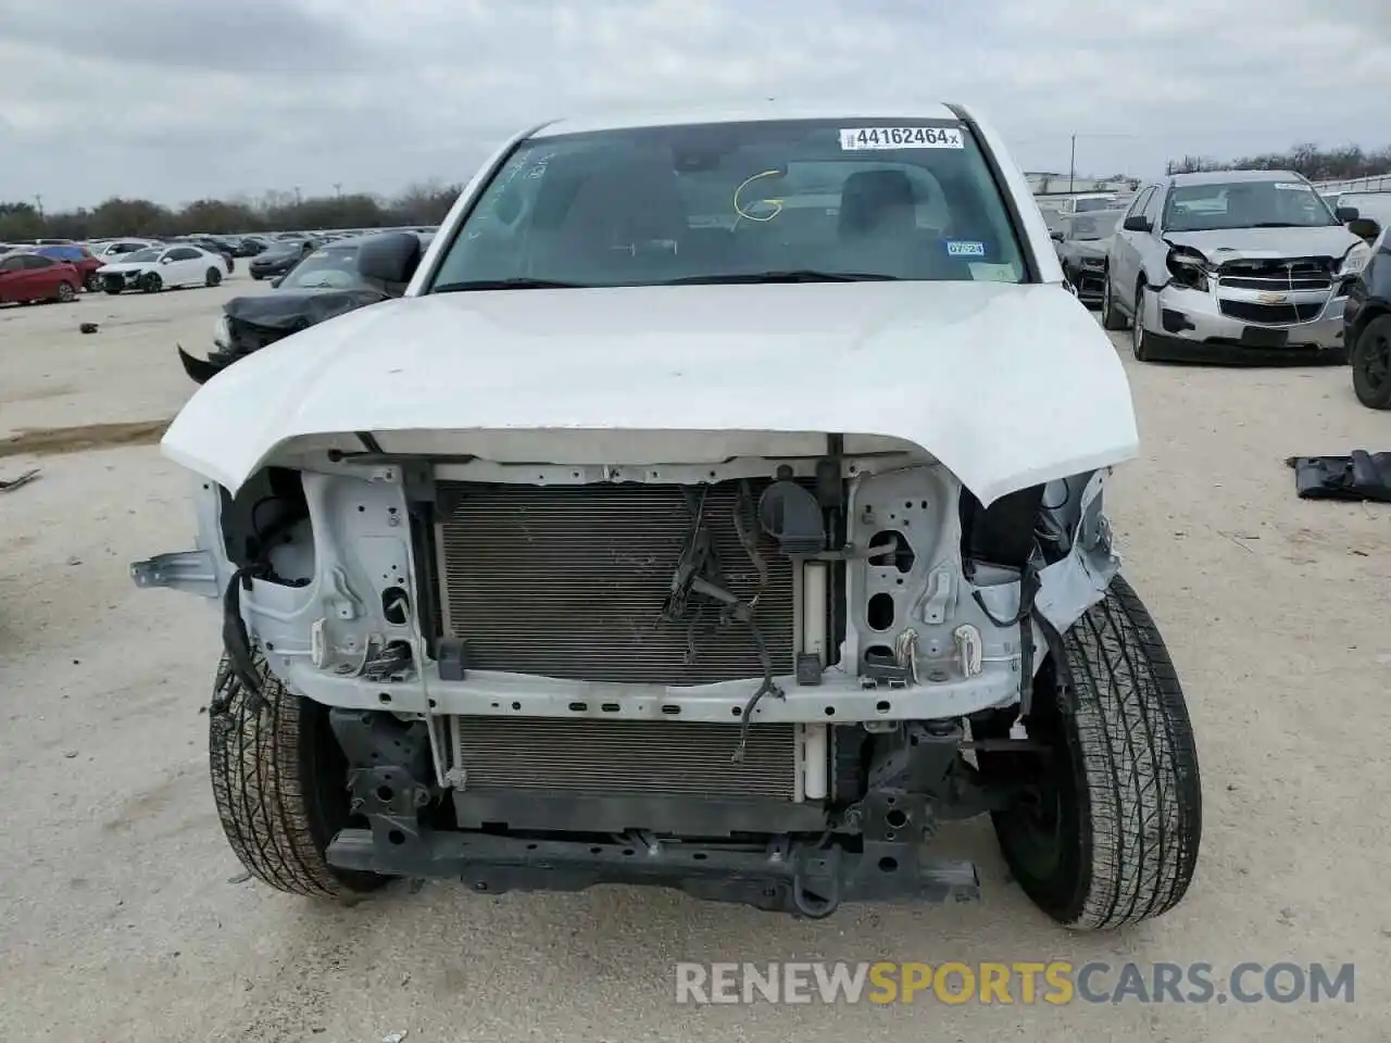
M0 0L0 200L394 192L623 107L975 103L1028 170L1391 143L1391 0Z

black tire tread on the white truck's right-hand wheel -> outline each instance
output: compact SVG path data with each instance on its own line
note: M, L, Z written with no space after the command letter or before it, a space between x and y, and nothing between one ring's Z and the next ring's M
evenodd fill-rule
M1188 706L1159 627L1120 576L1063 647L1060 709L1089 802L1089 879L1067 925L1138 923L1178 904L1198 862L1202 786Z

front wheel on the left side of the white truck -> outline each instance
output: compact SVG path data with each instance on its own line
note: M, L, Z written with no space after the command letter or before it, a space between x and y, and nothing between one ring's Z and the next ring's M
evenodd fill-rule
M381 887L388 878L324 859L352 818L327 708L285 688L260 656L256 670L260 712L225 655L213 686L209 768L227 843L252 876L289 894L349 900Z

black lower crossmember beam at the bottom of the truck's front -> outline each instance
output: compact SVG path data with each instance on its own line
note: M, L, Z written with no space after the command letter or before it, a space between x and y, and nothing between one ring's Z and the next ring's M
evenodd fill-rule
M979 900L975 866L928 861L917 840L864 841L862 851L773 841L762 850L691 843L586 843L487 833L421 833L384 843L344 830L328 846L341 869L389 876L458 878L470 890L579 891L597 884L672 887L696 898L773 912L826 916L842 903Z

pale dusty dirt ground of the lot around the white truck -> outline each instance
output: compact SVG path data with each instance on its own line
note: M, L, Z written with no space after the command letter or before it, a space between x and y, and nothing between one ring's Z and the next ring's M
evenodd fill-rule
M1391 510L1298 502L1281 463L1391 448L1391 419L1356 405L1345 369L1131 367L1145 456L1110 506L1187 683L1206 791L1198 878L1168 916L1068 936L1008 883L985 822L954 833L981 862L976 907L796 922L662 891L479 898L430 883L337 909L242 880L199 711L217 619L127 579L129 560L192 538L185 477L129 442L192 387L174 342L204 349L217 302L249 285L0 310L0 439L146 424L111 449L0 448L0 478L43 466L0 495L0 1037L1384 1037ZM82 337L79 321L102 330ZM673 1003L679 960L818 958L1355 961L1358 979L1355 1003L1319 1005Z

